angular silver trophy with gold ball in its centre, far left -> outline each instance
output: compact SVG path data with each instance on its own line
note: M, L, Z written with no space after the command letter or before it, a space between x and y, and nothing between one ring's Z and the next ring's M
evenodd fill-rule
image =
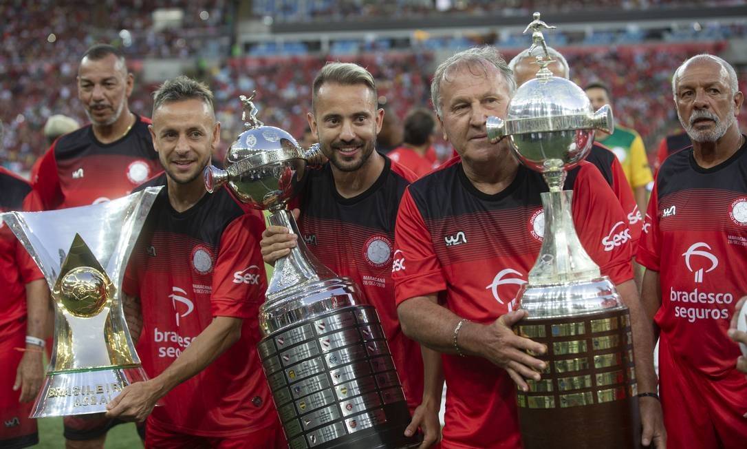
M55 343L31 418L106 412L147 379L122 307L122 280L160 187L114 201L0 216L34 258L55 302Z

